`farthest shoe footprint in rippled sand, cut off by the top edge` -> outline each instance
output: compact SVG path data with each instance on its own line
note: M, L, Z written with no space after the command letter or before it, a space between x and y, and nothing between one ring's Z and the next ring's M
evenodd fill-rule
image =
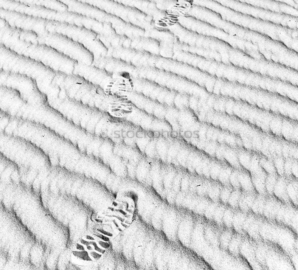
M155 25L165 28L176 24L180 16L187 16L192 6L193 0L177 0L175 6L166 10L167 16L157 20Z

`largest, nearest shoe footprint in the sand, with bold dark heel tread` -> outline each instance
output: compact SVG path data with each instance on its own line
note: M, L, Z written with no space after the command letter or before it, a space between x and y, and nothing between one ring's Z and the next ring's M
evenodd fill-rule
M137 194L133 190L122 190L106 211L92 214L87 234L72 251L72 263L85 266L98 260L110 246L110 240L135 219L136 203Z

